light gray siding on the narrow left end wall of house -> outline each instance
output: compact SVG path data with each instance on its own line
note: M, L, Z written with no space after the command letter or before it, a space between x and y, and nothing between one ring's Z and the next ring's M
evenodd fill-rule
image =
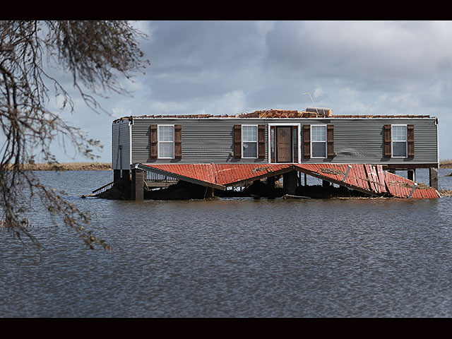
M121 151L119 145L122 146ZM112 168L130 169L130 128L128 120L112 124Z

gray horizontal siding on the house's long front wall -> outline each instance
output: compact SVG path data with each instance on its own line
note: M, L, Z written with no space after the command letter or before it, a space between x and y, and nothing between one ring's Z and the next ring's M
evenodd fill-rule
M266 163L268 162L268 124L333 124L333 159L306 159L300 162L333 163L435 163L437 157L436 118L326 118L326 119L149 119L136 118L132 126L132 163ZM151 124L182 125L182 159L151 160ZM234 124L266 124L266 158L242 160L234 158ZM415 125L415 157L385 158L383 152L383 125ZM302 132L302 129L301 129ZM303 140L303 135L301 137Z

